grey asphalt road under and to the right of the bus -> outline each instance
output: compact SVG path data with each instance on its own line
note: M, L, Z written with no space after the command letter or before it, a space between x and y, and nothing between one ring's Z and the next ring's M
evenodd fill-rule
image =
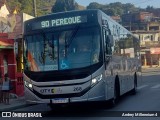
M144 71L142 80L138 82L137 94L122 96L119 103L113 108L107 107L104 103L92 103L64 106L59 110L51 110L49 106L40 104L16 109L14 111L40 112L42 119L46 120L158 120L160 119L159 73L159 70ZM157 115L159 117L157 117Z

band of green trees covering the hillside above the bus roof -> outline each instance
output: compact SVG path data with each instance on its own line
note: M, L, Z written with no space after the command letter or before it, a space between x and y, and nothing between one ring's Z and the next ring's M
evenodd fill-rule
M34 15L33 12L33 0L6 0L7 5L13 11L15 8L19 13L25 12L30 15ZM96 2L90 3L87 8L78 5L75 0L36 0L37 15L45 15L51 12L62 12L70 10L82 10L82 9L100 9L110 16L119 15L124 13L132 13L139 11L155 11L159 12L159 9L155 9L152 6L148 6L146 9L135 7L131 3L122 4L121 2L115 2L110 4L99 4Z

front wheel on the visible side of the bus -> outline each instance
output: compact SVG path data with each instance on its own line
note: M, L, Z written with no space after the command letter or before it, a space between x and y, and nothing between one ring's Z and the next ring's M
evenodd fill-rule
M114 85L114 96L110 101L110 106L114 107L120 98L120 84L119 84L119 77L116 76L115 85Z

